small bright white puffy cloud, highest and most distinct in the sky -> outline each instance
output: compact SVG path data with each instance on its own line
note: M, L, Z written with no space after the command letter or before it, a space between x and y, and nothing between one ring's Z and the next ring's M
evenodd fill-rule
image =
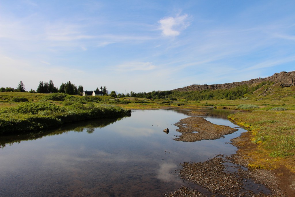
M178 36L181 30L190 25L188 22L189 15L184 14L176 17L165 17L158 21L160 30L164 36Z

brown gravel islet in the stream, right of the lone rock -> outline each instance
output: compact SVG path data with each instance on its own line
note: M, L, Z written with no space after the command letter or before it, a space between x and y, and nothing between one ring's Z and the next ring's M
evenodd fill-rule
M201 117L184 118L174 125L179 128L176 131L181 133L181 136L178 136L174 140L186 142L218 139L226 134L237 131L237 129L229 126L212 124Z

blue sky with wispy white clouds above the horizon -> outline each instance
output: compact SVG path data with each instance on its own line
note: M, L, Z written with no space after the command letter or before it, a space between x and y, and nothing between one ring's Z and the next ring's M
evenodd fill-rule
M295 1L0 0L0 87L171 90L295 70Z

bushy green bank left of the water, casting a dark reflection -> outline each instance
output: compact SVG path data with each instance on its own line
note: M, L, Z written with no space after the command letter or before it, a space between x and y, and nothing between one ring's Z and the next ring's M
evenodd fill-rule
M131 111L109 104L64 101L63 106L47 100L25 102L0 109L0 134L36 131L64 123L94 118L115 118L130 115Z

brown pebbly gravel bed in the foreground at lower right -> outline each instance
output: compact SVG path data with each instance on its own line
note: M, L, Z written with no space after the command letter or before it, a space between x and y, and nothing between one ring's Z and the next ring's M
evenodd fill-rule
M211 196L285 196L278 187L274 187L276 181L273 179L273 175L266 170L243 170L242 166L237 166L236 172L230 172L227 170L225 162L228 161L224 159L223 155L218 155L205 162L184 162L181 164L183 168L180 170L179 176L211 192ZM267 181L268 178L274 183ZM254 181L254 183L252 182L253 187L248 184L249 181ZM268 188L268 193L260 191L260 187ZM169 196L196 197L204 196L204 194L191 188L182 187Z

